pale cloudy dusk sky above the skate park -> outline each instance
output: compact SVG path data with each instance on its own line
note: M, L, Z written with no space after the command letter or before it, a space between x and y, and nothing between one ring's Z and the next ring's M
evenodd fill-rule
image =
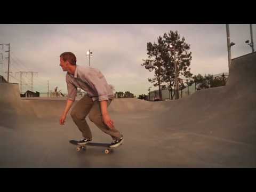
M254 50L256 25L253 26ZM251 47L245 43L251 41L249 24L229 25L231 58L251 53ZM86 52L90 49L92 58L90 67L98 68L105 75L108 84L115 91L130 91L134 95L147 94L149 87L157 90L148 78L154 77L141 66L147 59L147 43L157 42L159 36L170 30L177 30L185 37L192 52L191 73L219 74L228 72L227 34L225 24L125 24L125 25L1 25L0 44L10 43L10 83L20 82L20 71L32 71L34 91L50 90L67 93L66 72L59 66L62 52L73 52L77 65L89 67ZM0 45L0 75L7 79L8 46ZM3 55L3 59L2 59ZM22 75L23 84L31 84L31 74ZM30 90L23 85L22 92Z

